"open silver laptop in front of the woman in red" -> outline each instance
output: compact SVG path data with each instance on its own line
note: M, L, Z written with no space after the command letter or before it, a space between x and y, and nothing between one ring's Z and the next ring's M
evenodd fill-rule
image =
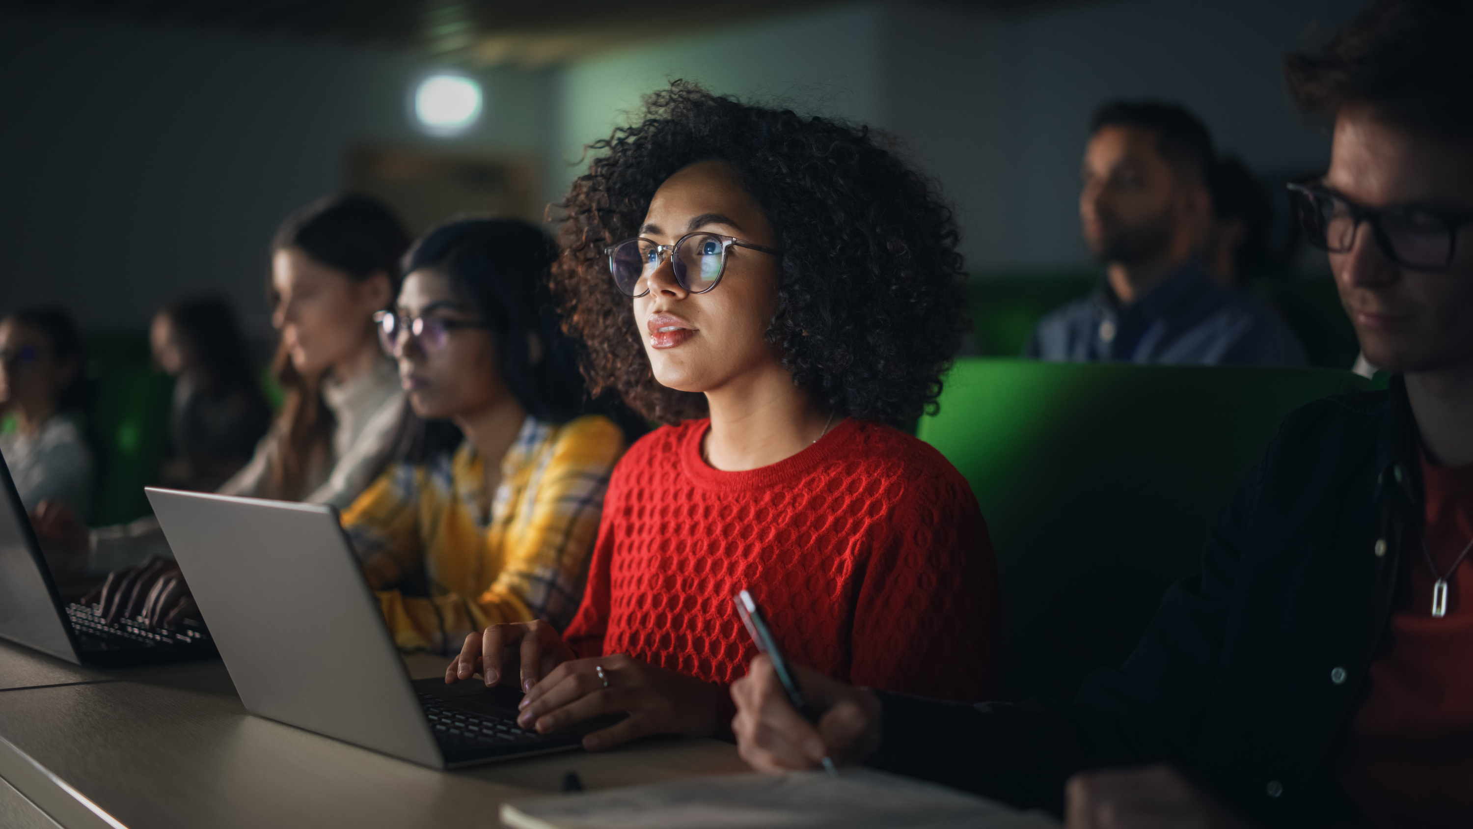
M517 727L514 688L411 682L331 507L146 492L252 714L436 769L574 749L614 722L544 736Z

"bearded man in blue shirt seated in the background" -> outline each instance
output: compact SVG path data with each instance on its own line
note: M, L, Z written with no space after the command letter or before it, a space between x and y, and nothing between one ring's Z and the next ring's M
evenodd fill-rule
M1212 137L1186 109L1114 102L1094 113L1080 218L1105 265L1087 297L1044 317L1024 356L1059 362L1304 365L1264 303L1212 280Z

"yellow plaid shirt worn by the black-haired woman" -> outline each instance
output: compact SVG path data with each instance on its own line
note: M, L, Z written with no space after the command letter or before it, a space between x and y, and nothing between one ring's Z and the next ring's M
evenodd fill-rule
M377 552L364 571L371 568L395 643L451 654L488 624L548 618L564 627L582 599L608 477L623 451L623 431L604 417L533 423L504 459L510 499L483 529L471 517L483 467L468 446L446 458L445 468L420 470L418 509L402 509L417 512L417 523L401 515L387 532L374 523L377 537L396 540L365 543ZM408 492L402 483L387 489ZM386 492L383 501L393 496ZM411 545L414 555L402 552ZM429 596L392 589L417 573L429 577Z

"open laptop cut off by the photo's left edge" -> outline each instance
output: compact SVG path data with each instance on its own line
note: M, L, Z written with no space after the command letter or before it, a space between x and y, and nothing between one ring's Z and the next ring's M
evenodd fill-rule
M77 664L125 667L215 655L197 621L112 624L94 607L65 601L52 579L10 468L0 459L0 638Z

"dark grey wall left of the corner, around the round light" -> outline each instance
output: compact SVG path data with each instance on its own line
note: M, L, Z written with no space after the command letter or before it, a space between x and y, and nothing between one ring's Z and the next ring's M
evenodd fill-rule
M60 300L140 327L221 290L267 334L265 249L342 187L356 143L408 127L427 69L392 52L0 15L0 309ZM452 144L545 152L546 74L482 74L488 116Z

